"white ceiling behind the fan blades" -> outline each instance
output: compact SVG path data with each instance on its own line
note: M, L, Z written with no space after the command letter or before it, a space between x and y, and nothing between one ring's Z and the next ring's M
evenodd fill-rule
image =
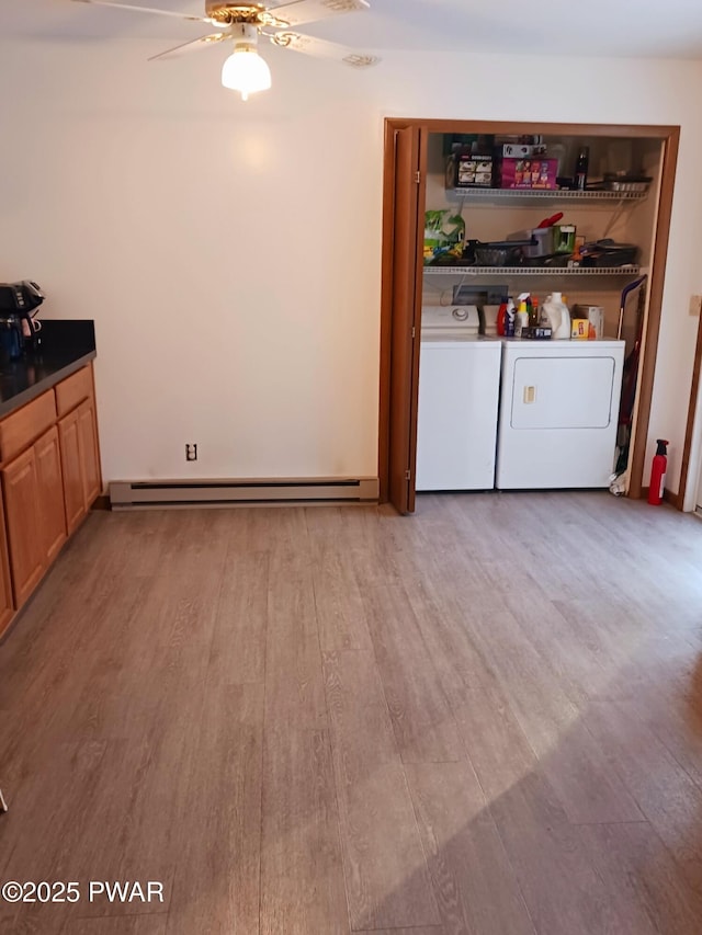
M134 5L161 7L202 14L199 0L131 0ZM548 55L644 56L702 59L701 0L371 0L366 13L339 16L305 31L342 42L358 50L409 49L505 53L505 68L514 70L511 54L544 56L534 82L568 81L577 95L587 73L554 72ZM271 7L279 5L271 2ZM71 0L1 0L0 38L154 41L166 43L202 33L197 23L168 16L90 7ZM301 30L302 32L302 30ZM456 80L471 83L471 60ZM616 89L612 89L616 93ZM524 89L529 93L528 88Z

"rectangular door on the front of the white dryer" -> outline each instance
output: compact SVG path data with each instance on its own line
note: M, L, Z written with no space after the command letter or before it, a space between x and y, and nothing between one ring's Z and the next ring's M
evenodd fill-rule
M605 429L612 413L615 362L601 357L518 357L512 429Z

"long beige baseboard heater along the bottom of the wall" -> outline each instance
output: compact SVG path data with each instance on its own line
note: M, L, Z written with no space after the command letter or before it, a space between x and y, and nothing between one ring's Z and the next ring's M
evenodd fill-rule
M376 503L378 479L275 478L261 480L113 480L113 510L254 506L291 503Z

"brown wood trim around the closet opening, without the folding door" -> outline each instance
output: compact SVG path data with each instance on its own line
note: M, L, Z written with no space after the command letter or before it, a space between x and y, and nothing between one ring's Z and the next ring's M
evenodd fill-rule
M660 192L653 255L650 259L648 313L638 375L638 404L635 414L634 443L630 455L629 497L644 495L643 476L648 441L650 403L653 397L656 353L663 306L666 259L672 214L679 126L620 125L620 124L563 124L521 121L462 121L421 119L417 117L385 119L385 152L383 167L383 252L381 283L381 366L378 412L378 478L381 502L387 501L389 470L389 422L393 406L390 394L390 343L393 327L393 192L395 189L393 134L395 129L417 127L423 133L454 134L543 134L546 136L615 136L632 139L657 139L664 144L660 170ZM422 162L426 176L427 163ZM416 426L415 426L416 429Z

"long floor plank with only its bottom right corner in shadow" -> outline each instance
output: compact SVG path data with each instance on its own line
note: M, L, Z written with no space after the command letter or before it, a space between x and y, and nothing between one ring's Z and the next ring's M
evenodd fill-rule
M375 659L327 653L325 675L351 925L438 923Z

